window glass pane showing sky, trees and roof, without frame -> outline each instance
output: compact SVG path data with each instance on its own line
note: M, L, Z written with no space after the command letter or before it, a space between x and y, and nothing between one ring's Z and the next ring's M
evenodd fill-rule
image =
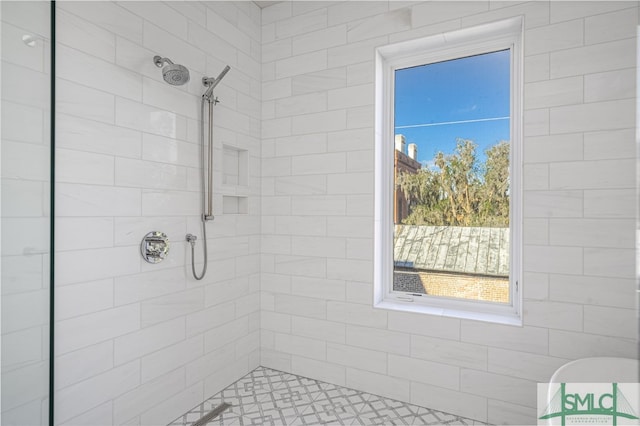
M510 303L510 53L395 72L394 291Z

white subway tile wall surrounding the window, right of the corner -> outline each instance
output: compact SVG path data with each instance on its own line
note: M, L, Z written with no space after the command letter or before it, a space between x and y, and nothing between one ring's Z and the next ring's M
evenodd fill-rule
M373 309L374 48L519 15L524 326ZM637 24L630 1L263 9L261 364L533 424L563 363L636 358Z

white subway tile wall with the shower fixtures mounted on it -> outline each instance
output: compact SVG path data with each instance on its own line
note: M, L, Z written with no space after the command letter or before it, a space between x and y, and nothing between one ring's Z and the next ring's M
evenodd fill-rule
M260 9L126 1L57 10L56 424L164 424L259 365ZM189 68L189 84L165 83L154 55ZM214 110L217 217L207 224L208 273L196 281L184 239L198 236L201 270L201 79L227 64ZM13 133L42 143L32 128ZM243 153L242 168L228 150ZM244 214L224 213L223 193L244 198ZM139 254L150 231L171 241L158 265Z

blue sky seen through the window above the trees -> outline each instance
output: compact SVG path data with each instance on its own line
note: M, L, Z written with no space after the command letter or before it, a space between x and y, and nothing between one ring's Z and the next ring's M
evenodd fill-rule
M452 153L457 138L475 141L484 161L486 148L509 140L509 56L505 50L396 71L395 133L418 145L418 161Z

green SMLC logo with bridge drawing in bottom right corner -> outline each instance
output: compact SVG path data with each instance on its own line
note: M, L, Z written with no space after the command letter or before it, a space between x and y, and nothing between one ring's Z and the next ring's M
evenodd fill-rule
M566 383L551 398L549 405L539 420L556 419L562 426L571 424L638 424L629 420L638 420L634 407L622 393L618 383L606 384L574 383L571 391ZM637 384L636 384L637 393ZM635 398L637 400L637 395ZM625 419L624 421L622 421ZM622 422L621 422L622 421ZM544 423L539 423L544 424Z

